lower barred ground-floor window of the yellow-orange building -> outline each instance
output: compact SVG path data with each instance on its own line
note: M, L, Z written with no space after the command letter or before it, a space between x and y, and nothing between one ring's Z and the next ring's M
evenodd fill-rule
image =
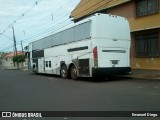
M158 57L159 34L149 33L135 36L137 57Z

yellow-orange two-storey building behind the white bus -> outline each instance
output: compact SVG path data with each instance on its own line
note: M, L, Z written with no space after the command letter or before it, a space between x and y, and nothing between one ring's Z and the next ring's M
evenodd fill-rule
M97 12L128 19L133 69L160 70L160 0L81 0L70 17L76 22Z

